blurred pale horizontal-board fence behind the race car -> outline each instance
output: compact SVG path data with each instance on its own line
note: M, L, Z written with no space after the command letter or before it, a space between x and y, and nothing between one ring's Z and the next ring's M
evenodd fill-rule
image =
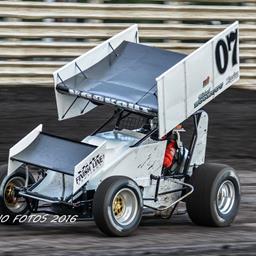
M0 85L52 86L54 70L132 23L139 24L144 43L190 53L239 20L241 80L236 86L256 89L256 0L169 2L1 1Z

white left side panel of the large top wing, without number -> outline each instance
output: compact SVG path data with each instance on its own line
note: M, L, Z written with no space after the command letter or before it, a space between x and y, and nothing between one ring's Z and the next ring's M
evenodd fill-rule
M93 109L95 105L86 99L77 99L72 108L70 108L68 113L64 116L64 114L69 109L76 97L70 95L67 96L59 93L56 90L57 84L77 75L81 72L80 69L85 70L90 68L91 66L102 60L104 57L106 57L109 53L111 53L113 51L111 47L115 49L123 41L138 42L137 25L133 25L128 29L120 32L119 34L111 37L109 40L101 43L100 45L96 46L95 48L91 49L90 51L86 52L85 54L81 55L80 57L76 58L75 60L71 61L70 63L66 64L65 66L54 72L54 88L59 120L64 120L85 114L86 112ZM79 66L80 69L76 64ZM86 110L83 111L85 106L87 106Z

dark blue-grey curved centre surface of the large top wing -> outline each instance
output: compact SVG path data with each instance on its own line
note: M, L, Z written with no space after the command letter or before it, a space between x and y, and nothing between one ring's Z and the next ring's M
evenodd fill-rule
M185 57L181 53L123 41L92 67L60 82L56 89L95 104L156 116L155 79Z

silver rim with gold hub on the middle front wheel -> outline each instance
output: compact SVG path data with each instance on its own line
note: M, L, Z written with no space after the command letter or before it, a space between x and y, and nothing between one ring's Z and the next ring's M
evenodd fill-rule
M128 188L120 190L112 203L112 213L117 223L122 226L129 225L135 219L137 212L138 200L135 193Z

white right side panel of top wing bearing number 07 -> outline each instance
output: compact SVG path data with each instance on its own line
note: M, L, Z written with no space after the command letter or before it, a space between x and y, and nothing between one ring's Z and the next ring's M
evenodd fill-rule
M238 22L156 80L161 138L239 80Z

